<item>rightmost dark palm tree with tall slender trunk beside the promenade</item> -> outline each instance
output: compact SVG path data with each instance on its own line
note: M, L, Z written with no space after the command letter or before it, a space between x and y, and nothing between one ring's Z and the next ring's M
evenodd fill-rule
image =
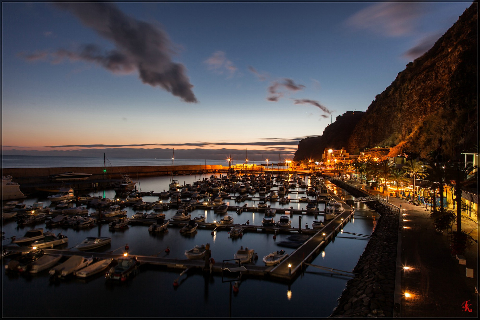
M456 202L456 232L462 231L462 189L477 179L477 172L473 173L475 166L464 162L454 162L447 167L447 184L453 189Z

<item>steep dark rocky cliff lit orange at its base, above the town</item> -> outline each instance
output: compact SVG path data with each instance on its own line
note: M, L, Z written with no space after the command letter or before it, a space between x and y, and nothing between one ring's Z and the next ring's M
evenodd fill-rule
M477 11L474 2L428 52L408 63L375 97L348 137L347 128L334 123L322 136L300 141L294 160L321 154L325 147L346 147L358 154L381 145L392 147L391 156L413 151L425 158L437 149L439 138L442 153L454 158L478 144ZM344 140L330 138L337 135Z

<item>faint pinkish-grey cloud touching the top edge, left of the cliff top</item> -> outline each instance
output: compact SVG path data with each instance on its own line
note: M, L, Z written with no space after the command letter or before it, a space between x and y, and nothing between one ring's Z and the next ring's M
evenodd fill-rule
M345 23L386 36L404 36L415 29L426 8L423 3L414 2L376 3L355 13Z

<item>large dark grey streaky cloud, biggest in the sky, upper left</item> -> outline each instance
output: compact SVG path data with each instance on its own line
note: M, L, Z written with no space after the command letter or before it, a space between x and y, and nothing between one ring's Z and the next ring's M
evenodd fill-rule
M59 49L50 53L52 63L63 59L94 62L114 73L138 71L143 83L159 86L186 102L197 102L186 68L171 59L172 43L168 35L153 24L125 15L112 3L55 3L72 12L85 26L113 43L115 49L105 51L85 45L77 51ZM45 58L28 55L33 61Z

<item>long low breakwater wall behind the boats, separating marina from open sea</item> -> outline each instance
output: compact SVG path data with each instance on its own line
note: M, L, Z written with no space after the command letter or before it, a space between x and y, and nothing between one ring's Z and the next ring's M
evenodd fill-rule
M107 170L104 172L104 169ZM228 167L220 165L173 166L174 175L189 175L205 172L228 171ZM48 181L48 176L63 172L90 173L92 176L85 181L99 179L120 179L122 175L131 178L156 177L172 174L172 166L85 166L61 168L2 168L2 175L10 175L13 181L23 183L41 183Z

